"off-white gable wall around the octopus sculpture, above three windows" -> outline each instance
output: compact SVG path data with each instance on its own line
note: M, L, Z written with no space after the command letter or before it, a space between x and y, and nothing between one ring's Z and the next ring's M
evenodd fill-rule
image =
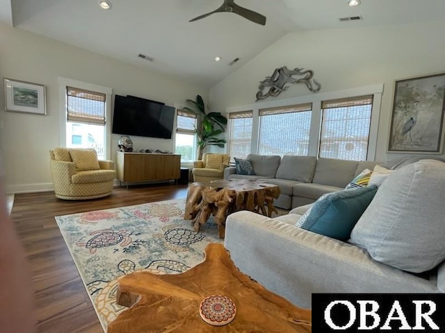
M394 80L445 72L444 36L445 22L289 33L213 86L209 98L213 110L252 104L259 81L282 66L312 69L320 92L384 83L375 159L399 157L387 153ZM292 84L264 101L308 94Z

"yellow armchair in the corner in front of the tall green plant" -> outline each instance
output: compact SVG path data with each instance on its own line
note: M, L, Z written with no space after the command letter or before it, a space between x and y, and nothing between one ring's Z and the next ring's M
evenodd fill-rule
M202 155L202 160L193 162L193 181L209 182L223 179L229 158L227 154L205 153Z

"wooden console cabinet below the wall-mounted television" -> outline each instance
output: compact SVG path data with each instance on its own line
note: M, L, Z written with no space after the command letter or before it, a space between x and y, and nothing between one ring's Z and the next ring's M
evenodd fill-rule
M118 151L116 167L120 182L177 180L181 177L181 155L123 153Z

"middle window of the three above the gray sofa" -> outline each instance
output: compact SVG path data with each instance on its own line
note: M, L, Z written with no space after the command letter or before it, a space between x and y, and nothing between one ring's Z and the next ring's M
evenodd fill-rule
M312 103L259 110L260 155L307 155Z

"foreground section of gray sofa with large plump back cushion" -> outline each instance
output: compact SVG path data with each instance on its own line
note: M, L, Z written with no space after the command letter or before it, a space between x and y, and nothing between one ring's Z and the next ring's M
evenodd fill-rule
M437 156L430 158L444 161ZM445 237L445 167L435 173L428 168L410 167L412 162L423 159L428 156L380 164L387 169L405 167L405 176L400 171L398 178L393 176L394 172L385 179L351 233L357 243L354 239L339 241L296 227L310 206L305 205L272 219L248 211L230 214L225 247L243 273L300 307L312 307L312 293L445 293L445 246L440 241ZM365 167L355 164L354 170L353 164L343 164L348 167L346 177L334 172L340 163L319 160L315 169L326 174L315 172L314 188L323 185L317 182L328 180L334 185L323 186L343 186L352 174L359 172L359 165ZM369 164L366 167L371 169ZM334 177L338 177L336 182L331 180ZM308 192L310 183L298 182L293 191L298 189L297 185L306 186L306 198L300 193L296 202L309 199L309 193L313 193ZM371 245L366 246L366 242ZM375 246L380 248L376 251ZM423 267L411 272L428 271L409 273L406 264L400 267L400 261Z

